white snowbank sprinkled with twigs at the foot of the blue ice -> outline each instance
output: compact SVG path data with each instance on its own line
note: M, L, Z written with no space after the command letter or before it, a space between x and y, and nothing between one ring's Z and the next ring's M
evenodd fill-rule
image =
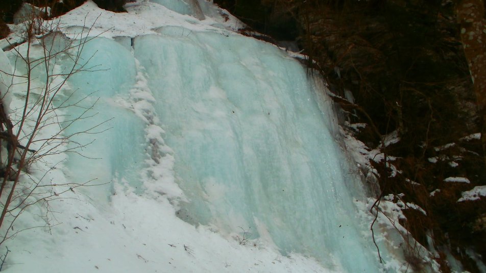
M196 228L178 220L166 199L140 198L126 190L115 188L112 205L104 211L77 200L82 194L59 201L66 227L54 228L52 235L19 233L16 240L29 235L42 240L9 245L13 265L7 271L38 272L42 266L42 272L332 272L299 254L282 257L257 240L239 245L208 227Z

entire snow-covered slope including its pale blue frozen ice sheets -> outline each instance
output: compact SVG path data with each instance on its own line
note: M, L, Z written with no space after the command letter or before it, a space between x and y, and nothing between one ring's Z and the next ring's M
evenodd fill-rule
M51 227L4 243L8 272L379 270L324 85L198 3L138 1L112 13L88 1L61 17L56 42L94 37L80 56L94 71L67 81L59 96L75 106L56 111L66 126L92 108L63 131L90 144L43 158L33 176L98 186L23 212L15 229ZM14 65L15 51L7 57ZM11 92L16 109L21 85Z

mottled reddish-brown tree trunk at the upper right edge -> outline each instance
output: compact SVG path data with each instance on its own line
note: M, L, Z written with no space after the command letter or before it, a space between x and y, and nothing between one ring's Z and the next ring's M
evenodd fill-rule
M469 65L481 116L481 143L486 164L486 23L482 0L463 0L456 6L460 38Z

